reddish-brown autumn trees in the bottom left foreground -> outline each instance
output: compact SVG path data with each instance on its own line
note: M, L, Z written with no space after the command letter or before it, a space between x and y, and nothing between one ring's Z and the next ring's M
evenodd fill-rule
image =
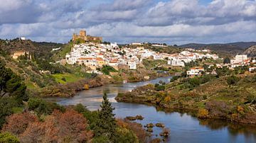
M93 136L87 130L87 120L75 110L55 110L42 122L32 113L14 114L7 118L3 131L21 142L89 142Z

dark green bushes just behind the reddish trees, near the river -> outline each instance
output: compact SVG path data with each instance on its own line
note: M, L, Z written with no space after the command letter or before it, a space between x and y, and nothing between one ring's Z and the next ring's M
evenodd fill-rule
M53 110L65 111L65 108L57 103L46 102L40 98L30 98L28 101L28 110L33 110L37 115L49 115Z

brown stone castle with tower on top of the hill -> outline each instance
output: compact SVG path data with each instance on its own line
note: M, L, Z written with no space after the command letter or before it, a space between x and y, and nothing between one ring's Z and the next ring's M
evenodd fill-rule
M90 36L90 35L86 35L86 31L85 30L80 30L79 35L77 34L73 34L73 42L75 42L78 39L82 39L85 40L85 42L102 42L102 37L94 37L94 36Z

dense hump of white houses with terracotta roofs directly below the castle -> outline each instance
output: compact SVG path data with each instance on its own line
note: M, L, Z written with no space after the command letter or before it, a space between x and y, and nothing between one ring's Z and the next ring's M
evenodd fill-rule
M65 60L68 64L85 65L92 70L103 65L109 65L114 69L137 69L139 58L136 53L136 50L119 49L117 43L84 43L74 45L70 54L65 56Z

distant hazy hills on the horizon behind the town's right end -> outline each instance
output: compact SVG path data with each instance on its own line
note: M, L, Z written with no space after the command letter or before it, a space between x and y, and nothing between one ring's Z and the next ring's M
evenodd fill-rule
M245 51L248 47L256 45L256 42L230 42L225 44L200 44L200 43L190 43L186 45L180 45L179 47L194 48L194 49L209 49L215 52L226 54L226 55L235 55L240 54Z

